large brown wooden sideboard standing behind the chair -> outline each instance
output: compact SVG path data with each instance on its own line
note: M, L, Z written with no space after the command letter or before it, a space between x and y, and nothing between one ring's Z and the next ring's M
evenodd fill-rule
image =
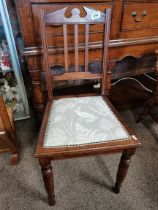
M45 66L42 60L39 31L38 14L40 9L52 11L68 6L67 13L69 14L73 7L81 8L83 5L100 11L104 11L105 8L112 8L109 42L109 68L111 69L118 60L127 56L140 58L143 55L152 54L158 48L158 0L15 0L15 4L25 46L22 54L27 58L33 85L34 103L39 115L43 113L45 108L41 85L41 75ZM81 15L83 15L82 13L84 12L82 11ZM60 32L61 29L56 27L55 38L50 43L52 46L50 50L54 53L62 51ZM96 59L96 55L99 56L99 48L102 47L101 37L102 28L94 29L92 27L91 61ZM80 39L82 41L82 34ZM82 48L81 44L79 46L80 53L82 53ZM53 60L53 55L51 59ZM59 53L58 60L61 61L62 59L62 53ZM144 71L138 69L137 74L142 74L145 71L149 71L149 69L144 68ZM117 72L115 74L116 79Z

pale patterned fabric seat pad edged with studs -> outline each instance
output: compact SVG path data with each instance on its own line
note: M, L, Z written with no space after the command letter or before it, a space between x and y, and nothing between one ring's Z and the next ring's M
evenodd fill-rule
M122 141L130 135L101 96L54 100L44 147Z

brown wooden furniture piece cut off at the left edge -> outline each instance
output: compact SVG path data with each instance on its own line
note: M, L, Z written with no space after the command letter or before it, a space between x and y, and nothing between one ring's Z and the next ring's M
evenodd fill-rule
M0 96L0 153L11 152L11 164L19 160L19 144L17 142L13 113L11 107L5 107Z

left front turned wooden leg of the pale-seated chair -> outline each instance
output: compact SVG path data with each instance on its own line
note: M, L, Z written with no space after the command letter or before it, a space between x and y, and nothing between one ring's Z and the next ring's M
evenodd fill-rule
M53 206L55 204L55 195L51 160L48 158L40 158L39 162L41 165L45 189L48 194L48 202L50 206Z

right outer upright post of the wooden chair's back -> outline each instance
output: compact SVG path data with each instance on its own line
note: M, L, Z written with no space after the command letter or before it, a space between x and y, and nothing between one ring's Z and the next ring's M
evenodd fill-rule
M109 81L110 74L107 72L107 61L108 61L108 43L110 34L110 24L111 24L111 9L106 10L106 19L104 24L104 40L103 40L103 65L102 65L102 82L101 82L101 94L105 95L109 91Z

